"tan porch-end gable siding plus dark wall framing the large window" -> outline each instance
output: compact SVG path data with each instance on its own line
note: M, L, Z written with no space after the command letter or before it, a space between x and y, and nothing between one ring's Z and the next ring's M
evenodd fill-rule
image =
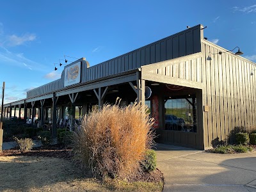
M201 52L141 67L141 79L195 88L197 132L163 130L164 124L161 124L160 129L157 129L157 134L159 134L157 141L204 149L202 121L202 89L204 83L202 68ZM159 103L164 108L163 98L163 92L159 92ZM163 115L160 116L162 119L164 118Z

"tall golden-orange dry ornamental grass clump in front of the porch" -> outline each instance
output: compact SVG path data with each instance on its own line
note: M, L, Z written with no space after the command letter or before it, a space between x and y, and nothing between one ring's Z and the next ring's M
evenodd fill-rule
M140 174L140 162L154 145L155 136L147 110L141 102L92 109L74 134L75 157L81 166L95 175L120 179Z

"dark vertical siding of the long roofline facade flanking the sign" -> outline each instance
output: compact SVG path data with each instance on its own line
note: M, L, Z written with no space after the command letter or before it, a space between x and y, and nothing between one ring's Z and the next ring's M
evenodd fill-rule
M202 30L200 30L200 28L201 26L198 25L186 29L180 33L168 36L162 40L141 47L140 49L136 49L92 67L86 68L84 64L81 73L81 83L120 74L125 71L140 68L143 65L172 60L173 58L200 52L200 40L202 36ZM63 80L64 77L62 74L61 79L30 90L27 93L27 98L61 90L64 88Z

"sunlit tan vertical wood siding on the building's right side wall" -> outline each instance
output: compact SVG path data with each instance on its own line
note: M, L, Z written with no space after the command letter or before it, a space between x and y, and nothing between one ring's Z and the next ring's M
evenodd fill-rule
M222 51L222 54L218 54ZM234 134L256 126L255 119L255 63L227 50L202 41L204 55L203 104L209 106L204 112L204 143L234 142ZM210 59L211 58L211 59Z

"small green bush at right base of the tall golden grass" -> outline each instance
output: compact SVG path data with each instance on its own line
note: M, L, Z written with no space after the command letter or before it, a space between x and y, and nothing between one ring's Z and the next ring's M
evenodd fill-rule
M145 160L141 162L141 166L148 173L156 170L156 151L148 149L145 153Z

